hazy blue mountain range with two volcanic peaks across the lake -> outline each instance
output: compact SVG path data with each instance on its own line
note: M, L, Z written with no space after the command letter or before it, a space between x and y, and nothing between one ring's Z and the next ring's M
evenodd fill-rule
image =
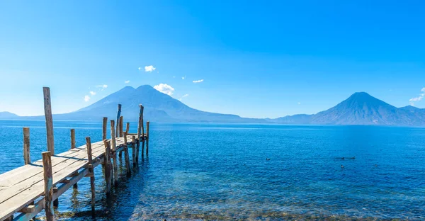
M53 118L55 120L101 120L102 117L114 119L118 103L122 104L121 115L125 117L125 120L137 120L141 103L145 107L145 119L153 122L425 126L425 109L414 106L397 108L365 92L357 92L333 108L317 114L256 119L199 111L149 85L143 85L137 89L126 86L90 106L71 113L55 114ZM0 112L0 118L41 120L44 116L20 117L13 113Z

